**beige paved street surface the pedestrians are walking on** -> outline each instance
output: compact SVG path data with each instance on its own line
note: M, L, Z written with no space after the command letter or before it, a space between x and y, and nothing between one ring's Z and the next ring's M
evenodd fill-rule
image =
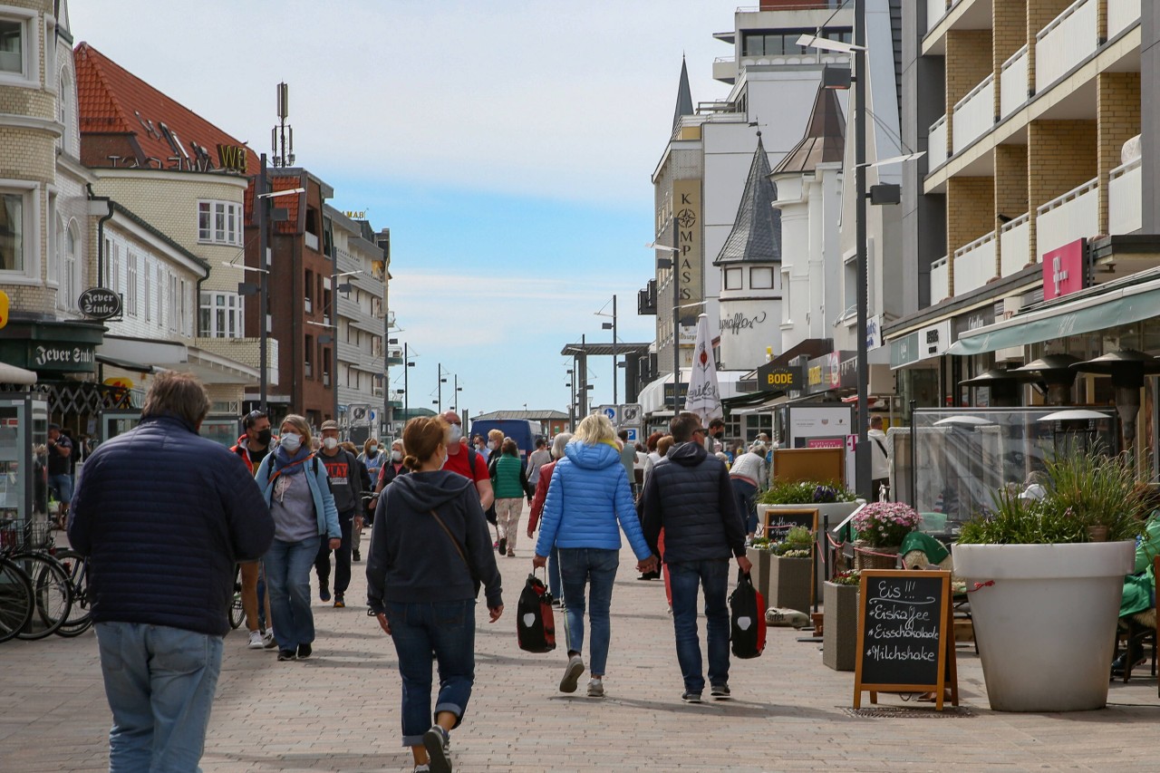
M608 696L583 696L583 681L560 694L563 635L551 655L516 646L515 602L531 555L516 552L499 558L503 617L487 624L478 608L476 692L452 734L456 771L1157 770L1147 739L1160 700L1146 669L1112 682L1102 711L999 714L987 707L978 658L960 646L972 716L862 718L848 711L853 673L825 667L818 644L797 641L803 634L770 629L761 658L733 662L732 701L686 706L664 588L636 580L628 550L612 598ZM351 600L365 586L363 564L355 566ZM317 602L314 656L298 663L246 649L245 629L230 634L203 770L409 771L394 651L364 612ZM0 644L0 771L107 768L109 711L92 633ZM879 701L904 706L898 695Z

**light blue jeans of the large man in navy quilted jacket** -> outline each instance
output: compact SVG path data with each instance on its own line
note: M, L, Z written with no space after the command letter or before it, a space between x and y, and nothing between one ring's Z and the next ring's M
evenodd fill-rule
M96 623L113 710L109 773L201 771L222 637L146 623Z

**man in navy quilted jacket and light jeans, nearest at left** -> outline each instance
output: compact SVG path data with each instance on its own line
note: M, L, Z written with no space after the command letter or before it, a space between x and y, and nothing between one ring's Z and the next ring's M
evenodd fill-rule
M109 771L197 767L233 566L261 557L274 539L246 465L197 435L209 409L196 377L160 374L140 425L93 451L73 498L68 540L89 557L113 709Z

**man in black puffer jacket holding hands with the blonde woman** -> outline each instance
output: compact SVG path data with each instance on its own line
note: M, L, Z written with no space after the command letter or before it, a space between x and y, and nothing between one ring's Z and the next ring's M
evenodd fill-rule
M705 688L697 636L697 587L705 591L709 638L709 684L712 696L726 699L728 689L728 559L748 573L745 521L737 512L728 472L705 451L705 431L696 416L681 414L669 424L675 441L667 458L653 465L640 497L645 539L657 552L665 529L665 564L673 588L673 629L676 659L684 677L681 699L699 703Z

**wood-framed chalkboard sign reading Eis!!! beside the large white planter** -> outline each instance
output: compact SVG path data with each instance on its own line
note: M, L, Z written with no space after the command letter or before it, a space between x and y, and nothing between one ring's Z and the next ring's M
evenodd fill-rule
M858 649L854 708L862 692L935 693L942 710L944 687L958 706L950 572L867 570L858 598Z

